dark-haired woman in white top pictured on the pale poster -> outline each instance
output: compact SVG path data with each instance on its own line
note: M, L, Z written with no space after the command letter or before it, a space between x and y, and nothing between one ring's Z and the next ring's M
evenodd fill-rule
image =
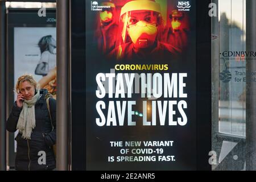
M35 75L46 76L50 69L56 67L56 40L51 35L43 36L39 40L38 46L40 47L41 58L36 66Z

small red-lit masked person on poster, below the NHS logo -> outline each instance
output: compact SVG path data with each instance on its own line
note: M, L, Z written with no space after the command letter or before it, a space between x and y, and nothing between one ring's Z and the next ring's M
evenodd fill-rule
M163 31L161 40L183 50L188 44L188 30L184 28L183 22L184 13L172 10L169 18L171 24Z

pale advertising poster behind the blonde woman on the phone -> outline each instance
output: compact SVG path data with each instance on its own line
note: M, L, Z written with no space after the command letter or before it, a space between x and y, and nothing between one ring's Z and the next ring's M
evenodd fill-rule
M33 75L40 88L47 89L56 99L55 27L14 27L13 88L18 78L24 74Z

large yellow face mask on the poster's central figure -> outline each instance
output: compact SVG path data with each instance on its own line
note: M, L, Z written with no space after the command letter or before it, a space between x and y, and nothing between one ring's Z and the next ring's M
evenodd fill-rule
M136 48L147 48L155 42L157 34L156 24L139 21L130 25L128 29L131 41Z

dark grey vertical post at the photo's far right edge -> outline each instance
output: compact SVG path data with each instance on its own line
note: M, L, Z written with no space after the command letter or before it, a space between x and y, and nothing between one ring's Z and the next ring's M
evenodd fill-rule
M246 51L256 50L256 1L246 1ZM251 57L253 58L253 57ZM246 60L246 170L256 170L256 71L255 60Z

